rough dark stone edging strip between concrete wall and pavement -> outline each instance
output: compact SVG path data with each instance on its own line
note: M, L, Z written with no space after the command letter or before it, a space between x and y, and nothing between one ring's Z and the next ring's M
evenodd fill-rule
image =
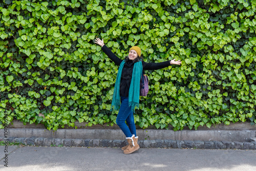
M123 147L127 145L125 140L108 139L60 139L29 137L18 138L9 137L0 141L18 142L25 145L38 146L87 146L87 147ZM141 148L201 148L201 149L256 149L256 142L238 142L238 141L190 141L190 140L138 140Z

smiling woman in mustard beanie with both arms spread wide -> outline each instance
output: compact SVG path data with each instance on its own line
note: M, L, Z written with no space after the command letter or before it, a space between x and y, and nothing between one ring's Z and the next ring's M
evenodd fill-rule
M170 65L180 65L181 61L168 60L160 63L147 63L141 57L141 50L134 46L129 50L129 55L124 60L118 58L111 50L104 45L104 40L95 39L95 43L101 46L103 52L120 66L115 82L113 101L111 110L118 110L116 123L125 134L128 145L122 147L124 154L131 154L140 147L138 144L138 136L136 136L136 127L134 123L134 109L139 107L139 85L142 70L158 70ZM125 124L125 120L128 126Z

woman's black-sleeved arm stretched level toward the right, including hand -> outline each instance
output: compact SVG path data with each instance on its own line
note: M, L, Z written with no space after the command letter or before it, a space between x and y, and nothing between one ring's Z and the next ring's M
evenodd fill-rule
M181 61L180 60L167 60L164 62L159 62L159 63L147 63L142 61L142 66L143 66L143 70L159 70L165 67L168 67L170 65L181 65Z

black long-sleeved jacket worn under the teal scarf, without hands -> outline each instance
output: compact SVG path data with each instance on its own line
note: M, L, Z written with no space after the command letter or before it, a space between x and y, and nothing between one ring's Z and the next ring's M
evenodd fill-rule
M108 57L115 62L115 65L120 66L120 63L123 61L122 59L118 58L111 50L106 47L105 45L101 48L103 52L108 55ZM159 63L147 63L142 61L142 67L143 70L158 70L165 67L170 66L170 61L167 60L165 62L159 62ZM132 80L133 75L133 67L134 62L133 60L128 60L124 63L122 75L121 75L121 81L120 81L120 96L129 96L129 88Z

